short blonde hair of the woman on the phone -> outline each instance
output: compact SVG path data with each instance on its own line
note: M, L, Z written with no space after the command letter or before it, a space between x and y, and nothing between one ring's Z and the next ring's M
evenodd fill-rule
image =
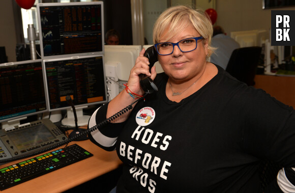
M164 41L169 40L176 34L183 31L188 25L192 25L196 31L208 41L208 57L214 52L211 47L213 27L210 17L201 9L192 9L188 6L175 6L166 9L157 19L154 25L153 41L154 44L160 43L160 38ZM169 33L164 32L169 29Z

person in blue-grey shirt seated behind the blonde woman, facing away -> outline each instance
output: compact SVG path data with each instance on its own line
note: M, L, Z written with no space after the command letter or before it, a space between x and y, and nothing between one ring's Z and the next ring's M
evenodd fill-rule
M216 48L210 57L210 62L219 65L226 70L229 58L233 50L240 48L240 44L227 36L221 26L213 27L213 38L211 45Z

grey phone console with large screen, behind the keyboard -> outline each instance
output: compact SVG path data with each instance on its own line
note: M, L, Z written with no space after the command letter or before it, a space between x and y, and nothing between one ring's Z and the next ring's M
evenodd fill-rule
M32 153L68 139L49 119L0 130L0 160Z

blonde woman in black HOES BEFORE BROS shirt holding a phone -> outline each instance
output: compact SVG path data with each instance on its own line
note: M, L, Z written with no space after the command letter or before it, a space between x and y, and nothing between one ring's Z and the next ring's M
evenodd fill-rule
M258 192L261 160L295 167L293 109L206 62L212 32L202 11L168 8L153 34L165 73L150 73L142 50L126 90L91 117L89 127L140 98L139 74L154 79L158 92L92 132L124 162L116 192Z

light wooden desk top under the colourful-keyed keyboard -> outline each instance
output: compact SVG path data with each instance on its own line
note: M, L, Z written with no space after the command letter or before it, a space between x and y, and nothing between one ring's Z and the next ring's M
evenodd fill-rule
M108 152L94 145L90 140L71 142L77 144L94 156L78 161L70 166L50 172L33 180L18 184L1 192L63 192L91 179L99 177L118 168L122 162L115 151ZM64 146L60 147L63 148ZM57 149L60 149L57 148ZM53 150L52 150L53 151ZM50 151L51 152L51 151ZM34 156L36 157L36 156ZM27 160L28 158L24 159ZM0 166L4 168L21 160Z

